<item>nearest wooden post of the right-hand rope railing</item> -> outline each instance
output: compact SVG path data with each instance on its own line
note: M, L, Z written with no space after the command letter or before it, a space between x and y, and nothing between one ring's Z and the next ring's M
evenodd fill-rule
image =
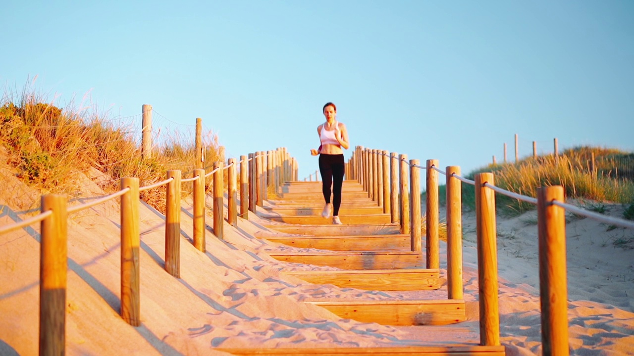
M562 186L537 189L541 343L544 355L567 356L566 210L553 200L564 201Z

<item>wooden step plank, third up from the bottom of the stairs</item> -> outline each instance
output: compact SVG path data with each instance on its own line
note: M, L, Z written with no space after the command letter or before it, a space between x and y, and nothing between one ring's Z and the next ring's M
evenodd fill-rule
M439 269L298 270L283 272L314 284L379 291L418 291L441 288Z

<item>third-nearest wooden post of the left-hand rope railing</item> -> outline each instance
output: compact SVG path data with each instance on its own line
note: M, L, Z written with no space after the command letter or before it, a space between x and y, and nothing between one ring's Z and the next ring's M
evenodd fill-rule
M165 194L165 270L181 277L181 171L168 170Z

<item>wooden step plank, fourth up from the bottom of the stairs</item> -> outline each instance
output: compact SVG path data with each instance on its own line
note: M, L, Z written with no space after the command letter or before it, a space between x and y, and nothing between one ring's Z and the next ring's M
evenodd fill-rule
M276 260L296 264L330 266L340 269L420 268L425 261L420 252L410 251L332 251L325 253L269 253Z

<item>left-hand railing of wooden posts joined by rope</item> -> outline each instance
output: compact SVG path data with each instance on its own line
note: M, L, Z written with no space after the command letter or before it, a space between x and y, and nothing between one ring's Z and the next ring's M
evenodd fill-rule
M141 143L142 156L151 153L152 143L146 141L146 129L152 127L146 123L146 115L152 113L152 108L143 108L143 140ZM159 115L159 114L157 114ZM164 117L163 117L164 118ZM164 118L167 120L166 118ZM199 120L199 119L198 119ZM197 120L197 127L198 127ZM198 132L197 132L198 134ZM197 139L198 141L198 139ZM197 157L197 165L201 167L204 163L202 149L197 147L200 155ZM254 160L254 158L256 158ZM166 186L165 188L165 270L174 277L179 277L179 241L180 241L180 216L181 216L181 184L183 182L193 182L193 245L200 251L205 251L205 179L210 175L213 177L214 196L214 235L223 239L223 192L224 170L228 173L228 223L237 227L237 174L240 165L240 217L247 219L248 211L256 211L256 205L262 205L262 197L266 196L266 190L273 186L278 191L285 181L293 181L297 177L297 162L288 155L285 148L278 148L275 151L260 151L256 154L249 154L249 158L242 156L239 162L235 158L230 158L228 164L223 167L223 162L214 163L214 169L205 174L205 169L198 168L193 171L193 177L181 179L180 170L168 170L167 179L156 182L149 186L139 188L139 179L124 177L120 179L121 189L107 196L98 197L89 203L67 207L67 198L58 194L46 194L42 196L41 213L29 219L8 224L0 227L0 234L15 231L20 228L30 226L37 222L41 223L41 267L46 270L42 274L42 291L40 298L40 351L42 354L63 353L64 333L65 333L65 300L58 297L57 289L66 289L65 285L56 284L56 290L46 289L49 279L55 281L66 281L68 269L67 256L67 217L69 213L79 212L86 208L94 207L106 201L120 197L120 233L121 233L121 288L120 288L120 315L122 319L133 326L140 326L139 312L139 206L140 193L150 189ZM271 169L263 169L267 166ZM221 169L223 168L223 169ZM257 196L257 201L256 201ZM136 217L136 219L134 219ZM63 253L62 253L63 252Z

